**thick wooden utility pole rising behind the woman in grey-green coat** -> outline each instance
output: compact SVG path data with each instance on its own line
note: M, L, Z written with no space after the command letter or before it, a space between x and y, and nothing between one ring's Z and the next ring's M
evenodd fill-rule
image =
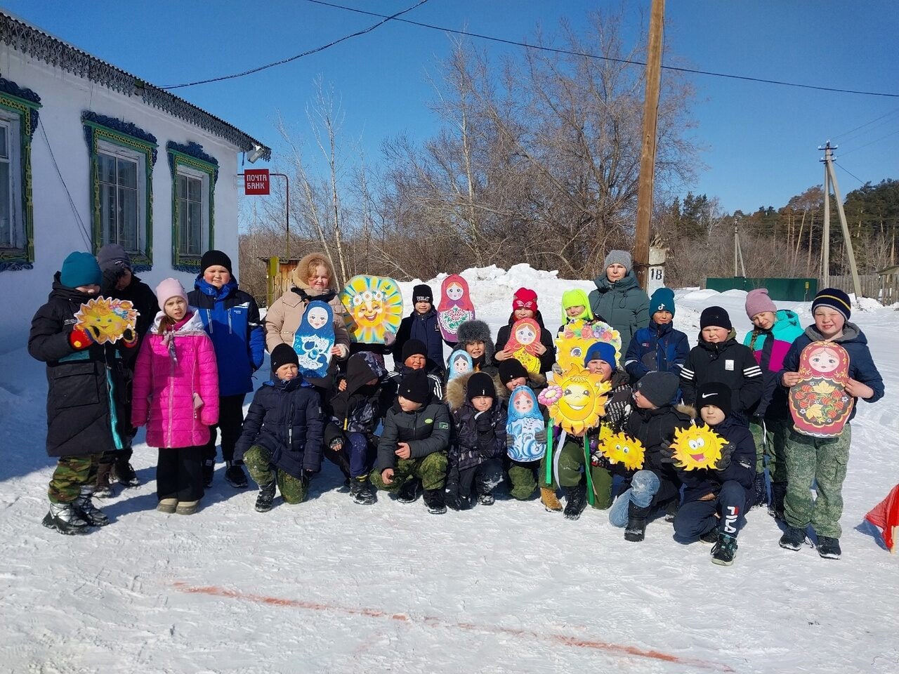
M653 0L649 20L649 46L646 48L646 90L643 104L643 143L640 147L640 183L636 197L634 234L634 270L642 288L646 288L649 266L649 221L653 215L655 181L656 124L659 117L659 89L662 85L662 38L665 0Z

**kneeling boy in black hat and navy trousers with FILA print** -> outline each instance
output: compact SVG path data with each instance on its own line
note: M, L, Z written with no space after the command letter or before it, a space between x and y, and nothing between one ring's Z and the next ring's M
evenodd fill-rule
M713 468L679 470L683 505L674 518L674 533L712 543L712 562L734 563L736 537L746 523L755 478L755 442L745 422L734 417L730 387L709 382L699 386L699 416L726 440Z

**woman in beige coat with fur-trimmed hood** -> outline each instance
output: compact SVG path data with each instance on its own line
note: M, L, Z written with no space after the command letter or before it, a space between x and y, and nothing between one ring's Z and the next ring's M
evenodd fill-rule
M350 334L343 324L343 305L334 280L334 270L325 253L309 253L290 272L293 287L271 303L265 315L265 348L273 350L279 344L293 347L294 334L314 299L327 302L334 310L334 349L331 354L341 360L350 355Z

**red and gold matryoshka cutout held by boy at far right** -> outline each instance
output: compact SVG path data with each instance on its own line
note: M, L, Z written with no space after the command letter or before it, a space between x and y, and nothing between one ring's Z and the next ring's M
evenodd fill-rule
M854 400L846 393L849 354L832 341L813 341L799 357L799 383L789 389L793 428L813 438L835 438Z

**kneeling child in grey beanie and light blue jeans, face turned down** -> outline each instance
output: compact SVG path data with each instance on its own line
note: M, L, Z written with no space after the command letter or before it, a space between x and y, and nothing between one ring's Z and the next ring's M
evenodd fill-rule
M636 406L631 409L624 431L643 444L644 467L630 478L628 490L609 510L612 526L624 527L628 541L644 539L654 506L681 499L681 479L668 450L674 431L693 422L693 411L672 405L678 385L678 377L672 372L648 372L636 383Z

